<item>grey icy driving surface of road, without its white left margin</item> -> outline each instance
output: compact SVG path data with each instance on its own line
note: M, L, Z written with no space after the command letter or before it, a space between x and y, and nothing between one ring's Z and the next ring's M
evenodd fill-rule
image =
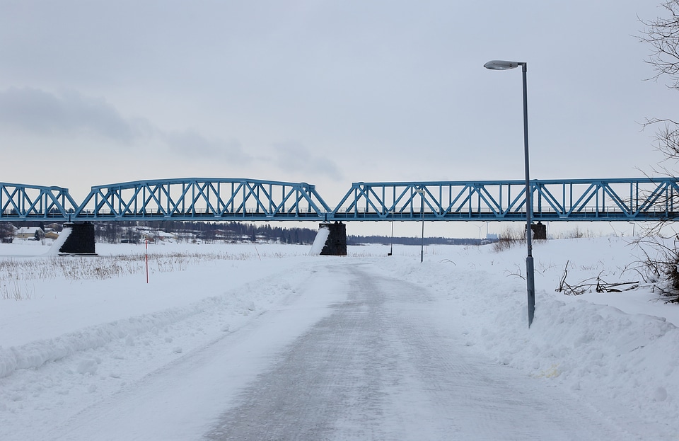
M348 297L243 390L209 440L620 440L557 389L441 332L426 290L330 268ZM449 326L445 328L449 329Z

